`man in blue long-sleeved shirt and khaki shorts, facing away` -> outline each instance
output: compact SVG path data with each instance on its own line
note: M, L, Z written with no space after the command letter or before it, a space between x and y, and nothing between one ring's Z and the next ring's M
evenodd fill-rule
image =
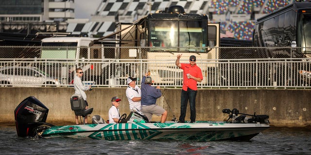
M161 97L160 86L153 87L152 78L147 77L148 73L141 79L141 112L144 113L149 122L152 115L161 116L161 123L164 123L167 118L167 111L155 104L156 99Z

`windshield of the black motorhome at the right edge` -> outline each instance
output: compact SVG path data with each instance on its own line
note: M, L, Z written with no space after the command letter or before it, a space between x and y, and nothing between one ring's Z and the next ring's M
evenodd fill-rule
M311 14L300 14L298 20L297 36L301 41L298 47L311 47ZM302 48L302 51L311 51L311 48Z

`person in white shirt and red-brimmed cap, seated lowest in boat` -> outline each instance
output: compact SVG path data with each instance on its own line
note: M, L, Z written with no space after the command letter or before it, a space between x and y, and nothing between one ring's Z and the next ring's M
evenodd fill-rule
M112 106L108 112L109 123L112 124L118 123L120 119L120 112L119 112L120 101L121 99L116 96L111 98Z

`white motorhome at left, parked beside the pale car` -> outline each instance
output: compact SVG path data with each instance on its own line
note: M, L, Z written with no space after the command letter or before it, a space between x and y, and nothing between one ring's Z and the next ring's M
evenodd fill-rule
M62 84L72 84L75 68L84 70L85 84L115 85L120 77L125 78L126 64L115 62L114 53L105 52L103 45L91 45L96 38L89 37L51 37L42 39L41 61L54 61L42 68L61 79ZM123 74L122 74L123 73ZM122 78L122 79L123 79Z

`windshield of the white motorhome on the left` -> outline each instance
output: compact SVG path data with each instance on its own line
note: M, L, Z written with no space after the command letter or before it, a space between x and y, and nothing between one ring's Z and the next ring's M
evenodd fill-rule
M43 59L75 59L77 42L51 43L43 42L41 58Z

